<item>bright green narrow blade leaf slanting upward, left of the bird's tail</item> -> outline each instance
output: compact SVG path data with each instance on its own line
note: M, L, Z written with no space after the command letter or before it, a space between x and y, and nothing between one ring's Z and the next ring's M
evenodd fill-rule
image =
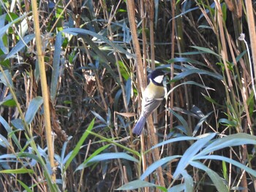
M94 119L91 120L91 123L89 124L87 131L85 131L83 133L83 136L79 139L78 144L75 145L75 149L72 150L71 155L69 156L69 159L67 160L67 163L65 164L64 167L64 172L67 171L67 168L69 167L69 164L71 163L71 161L75 158L76 155L78 155L79 151L80 151L80 147L83 145L83 142L86 140L86 138L89 136L89 131L91 131L91 129L94 127Z

